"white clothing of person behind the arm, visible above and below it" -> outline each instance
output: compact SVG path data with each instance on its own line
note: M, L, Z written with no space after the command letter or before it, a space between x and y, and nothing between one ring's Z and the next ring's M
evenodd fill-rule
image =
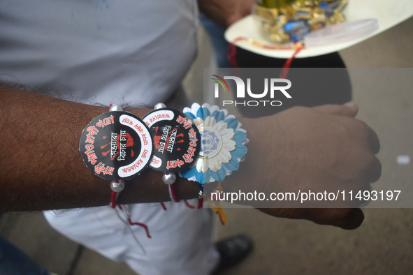
M47 85L87 103L154 105L180 86L196 56L197 16L195 0L2 1L0 80ZM180 203L167 211L160 204L127 208L151 239L109 207L45 217L66 237L140 274L210 273L218 255L207 211Z

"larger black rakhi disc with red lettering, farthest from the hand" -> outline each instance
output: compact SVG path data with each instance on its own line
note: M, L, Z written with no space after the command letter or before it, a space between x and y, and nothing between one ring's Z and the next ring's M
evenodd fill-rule
M80 154L87 168L103 179L131 179L152 160L149 128L129 112L106 112L82 132Z

